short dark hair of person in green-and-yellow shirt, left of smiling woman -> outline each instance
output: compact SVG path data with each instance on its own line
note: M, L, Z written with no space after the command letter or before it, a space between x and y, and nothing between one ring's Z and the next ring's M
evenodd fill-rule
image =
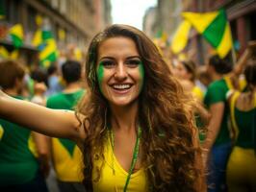
M63 78L67 84L78 82L81 78L81 71L81 63L76 60L67 60L62 65Z

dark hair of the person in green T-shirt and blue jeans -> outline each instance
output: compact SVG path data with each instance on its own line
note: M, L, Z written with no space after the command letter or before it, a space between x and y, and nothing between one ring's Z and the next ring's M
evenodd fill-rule
M232 71L233 63L228 58L220 59L218 55L212 56L209 60L209 64L212 65L218 74L226 74Z

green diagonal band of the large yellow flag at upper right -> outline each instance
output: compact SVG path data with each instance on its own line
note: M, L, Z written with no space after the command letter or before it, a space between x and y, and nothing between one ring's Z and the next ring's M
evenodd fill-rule
M202 34L215 48L218 47L222 36L224 35L226 22L227 18L225 12L220 10L215 20L206 28Z

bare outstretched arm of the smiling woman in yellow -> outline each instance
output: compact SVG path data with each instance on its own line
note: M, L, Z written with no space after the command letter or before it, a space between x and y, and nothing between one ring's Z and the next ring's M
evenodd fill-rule
M13 99L1 90L0 117L49 136L69 138L76 142L85 136L73 111L44 108Z

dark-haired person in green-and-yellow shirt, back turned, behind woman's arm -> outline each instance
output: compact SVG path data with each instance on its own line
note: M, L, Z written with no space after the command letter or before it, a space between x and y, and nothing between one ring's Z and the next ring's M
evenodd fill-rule
M78 100L84 95L81 88L81 63L67 60L62 65L62 75L65 83L64 90L47 99L47 108L73 110ZM85 191L82 184L82 153L76 143L69 139L52 138L51 151L53 165L62 192Z

